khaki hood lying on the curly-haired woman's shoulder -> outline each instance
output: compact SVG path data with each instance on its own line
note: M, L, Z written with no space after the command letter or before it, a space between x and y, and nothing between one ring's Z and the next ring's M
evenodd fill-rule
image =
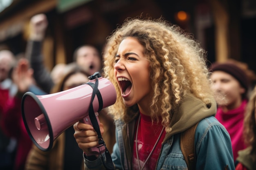
M216 101L213 97L209 97L209 99L209 104L204 104L202 100L192 94L186 95L177 109L178 111L173 113L170 122L172 130L166 134L164 141L172 135L189 129L206 117L215 116L217 110Z

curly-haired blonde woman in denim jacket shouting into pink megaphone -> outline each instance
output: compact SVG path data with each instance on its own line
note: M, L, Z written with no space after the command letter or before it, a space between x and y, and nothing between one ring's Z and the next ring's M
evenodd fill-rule
M104 73L117 90L109 107L116 125L115 169L187 169L180 133L199 122L196 169L234 170L229 134L214 117L204 57L199 43L162 19L127 19L107 39ZM85 169L106 169L104 154L88 156L98 144L92 126L77 122L74 129Z

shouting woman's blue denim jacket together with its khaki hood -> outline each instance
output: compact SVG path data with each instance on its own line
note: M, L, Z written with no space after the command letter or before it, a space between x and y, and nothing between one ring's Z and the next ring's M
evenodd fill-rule
M179 110L181 113L172 117L170 124L172 131L166 133L157 166L153 169L187 170L180 149L180 133L199 120L195 131L196 170L235 170L229 133L214 117L216 103L213 101L209 106L204 106L200 100L189 96ZM180 117L184 119L181 122ZM117 142L111 157L117 170L132 170L135 122L136 119L127 123L120 119L115 121ZM85 167L88 170L104 169L101 156L95 161L85 159Z

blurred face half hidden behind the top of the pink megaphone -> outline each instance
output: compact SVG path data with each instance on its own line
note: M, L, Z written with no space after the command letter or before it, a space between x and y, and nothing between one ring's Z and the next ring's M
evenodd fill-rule
M68 77L66 82L64 83L63 86L63 91L68 90L70 88L74 88L76 86L80 86L84 83L89 82L89 79L86 75L83 73L76 73Z

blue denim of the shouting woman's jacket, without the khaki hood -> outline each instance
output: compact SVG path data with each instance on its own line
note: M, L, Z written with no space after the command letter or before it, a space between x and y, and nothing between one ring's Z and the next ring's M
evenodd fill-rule
M193 97L188 101L192 100L194 100ZM192 104L194 107L198 106L194 104ZM202 115L203 112L200 114ZM191 115L191 117L193 116ZM132 169L132 153L127 152L131 152L132 150L135 121L136 119L126 124L121 120L115 121L117 142L113 148L111 157L117 170ZM168 139L164 139L157 166L153 169L187 170L186 162L180 149L180 132L173 135L166 134L166 137ZM213 115L201 119L196 128L195 152L197 157L196 170L235 170L229 133ZM85 167L88 170L103 169L101 156L95 161L85 159Z

